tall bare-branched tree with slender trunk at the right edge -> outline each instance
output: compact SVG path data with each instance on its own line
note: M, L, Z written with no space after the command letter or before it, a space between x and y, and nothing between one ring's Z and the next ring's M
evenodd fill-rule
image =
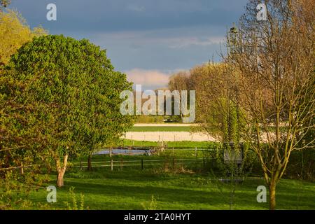
M237 74L246 118L244 138L258 155L269 186L269 209L290 154L314 147L314 1L262 1L267 20L258 21L250 0L239 30L228 41L226 63ZM303 144L300 144L303 141Z

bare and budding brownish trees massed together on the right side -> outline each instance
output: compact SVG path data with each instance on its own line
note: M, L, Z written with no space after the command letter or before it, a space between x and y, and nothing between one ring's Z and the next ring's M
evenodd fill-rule
M195 89L197 121L221 141L251 144L260 161L270 209L290 155L314 150L314 1L250 0L227 34L220 64L173 76L169 87Z

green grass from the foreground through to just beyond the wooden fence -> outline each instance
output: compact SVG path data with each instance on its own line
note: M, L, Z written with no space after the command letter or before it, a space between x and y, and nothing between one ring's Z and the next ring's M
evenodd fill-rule
M74 188L77 204L80 194L84 195L85 209L147 209L151 198L156 200L156 209L268 209L267 203L258 203L256 196L258 186L265 185L263 179L248 176L243 183L235 186L222 183L220 177L207 172L200 172L203 167L203 151L198 151L197 159L190 164L176 164L172 169L172 158L195 159L194 150L175 150L160 155L113 155L116 166L109 166L109 155L92 157L93 171L78 168L78 160L69 163L64 177L64 188L57 189L57 203L50 209L66 209L66 203L73 204L70 188ZM141 169L141 159L144 169ZM135 166L120 167L124 164ZM127 162L131 161L131 162ZM183 160L188 161L188 160ZM160 165L151 165L160 163ZM99 167L106 165L103 167ZM175 171L176 170L176 171ZM55 174L44 186L55 186ZM45 188L32 191L29 199L32 202L46 202ZM277 209L315 209L315 183L282 179L277 188ZM232 206L232 207L231 207ZM33 207L32 209L36 209Z

